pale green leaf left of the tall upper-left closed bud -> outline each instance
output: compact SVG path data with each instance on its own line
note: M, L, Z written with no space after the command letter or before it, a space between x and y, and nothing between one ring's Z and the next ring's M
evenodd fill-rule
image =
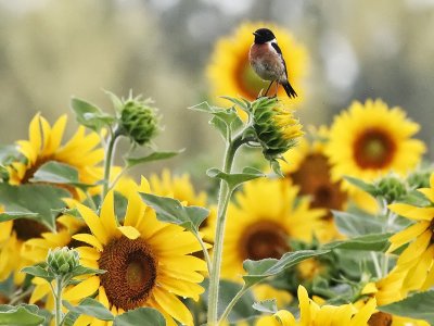
M71 108L75 112L78 123L94 131L115 122L114 116L102 112L97 105L77 98L71 100Z

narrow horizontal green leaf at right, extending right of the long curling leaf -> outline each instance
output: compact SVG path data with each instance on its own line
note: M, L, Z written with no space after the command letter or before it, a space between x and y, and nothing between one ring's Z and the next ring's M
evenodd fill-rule
M365 235L348 240L334 241L322 246L322 249L347 249L347 250L365 250L365 251L386 251L390 242L388 238L393 233Z

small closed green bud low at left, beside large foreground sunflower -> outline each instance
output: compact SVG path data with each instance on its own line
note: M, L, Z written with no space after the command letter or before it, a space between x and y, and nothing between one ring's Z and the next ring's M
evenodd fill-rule
M80 264L78 251L67 247L49 250L47 263L49 271L55 275L65 275L71 273Z

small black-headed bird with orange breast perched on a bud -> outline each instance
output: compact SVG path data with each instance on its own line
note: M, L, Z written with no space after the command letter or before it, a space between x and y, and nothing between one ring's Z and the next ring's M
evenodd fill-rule
M286 63L282 55L282 50L278 46L275 34L268 28L256 29L254 42L248 51L248 62L255 73L264 80L270 80L265 96L267 96L271 85L276 82L276 95L279 84L283 86L286 95L295 98L297 93L288 80Z

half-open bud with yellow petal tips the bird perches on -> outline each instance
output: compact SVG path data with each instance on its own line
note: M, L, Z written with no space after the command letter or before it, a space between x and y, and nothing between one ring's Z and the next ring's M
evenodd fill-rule
M264 156L279 159L304 135L298 120L277 98L259 98L252 104L253 127Z

